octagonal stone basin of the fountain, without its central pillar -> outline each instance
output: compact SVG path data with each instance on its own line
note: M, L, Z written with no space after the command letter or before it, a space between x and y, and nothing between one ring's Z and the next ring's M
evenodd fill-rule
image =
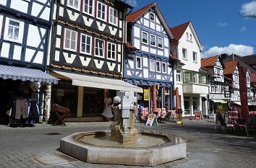
M137 141L110 141L110 131L73 133L60 150L84 162L155 166L186 157L186 142L169 133L142 131Z

